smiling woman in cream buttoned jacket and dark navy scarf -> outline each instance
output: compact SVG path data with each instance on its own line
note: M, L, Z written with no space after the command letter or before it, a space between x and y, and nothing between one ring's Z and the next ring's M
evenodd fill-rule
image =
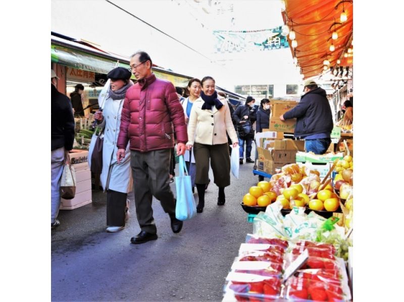
M202 92L192 105L188 122L187 149L193 147L196 176L195 185L199 203L197 213L205 206L205 186L209 181L209 161L213 170L214 182L219 187L218 206L225 204L224 188L230 185L230 156L226 131L233 146L238 145L237 134L231 122L230 109L226 99L215 90L215 80L204 77Z

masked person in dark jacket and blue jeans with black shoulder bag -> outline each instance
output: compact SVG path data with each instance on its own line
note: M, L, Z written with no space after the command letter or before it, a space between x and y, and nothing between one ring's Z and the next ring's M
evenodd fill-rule
M251 160L251 143L254 139L254 129L252 124L257 120L257 112L254 108L256 100L252 96L247 96L245 105L240 105L233 113L233 119L237 124L238 129L238 144L240 165L243 164L244 159L244 142L245 142L245 162L254 163Z

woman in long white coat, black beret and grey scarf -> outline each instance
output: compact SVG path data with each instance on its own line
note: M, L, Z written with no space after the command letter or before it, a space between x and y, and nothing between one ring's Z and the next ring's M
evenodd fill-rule
M116 146L121 124L121 112L126 91L133 85L131 72L123 67L111 70L107 77L111 79L103 111L97 111L94 118L98 127L104 129L103 171L99 177L104 191L107 190L107 232L117 232L125 227L125 209L127 193L131 191L132 177L130 169L129 143L125 158L117 162Z

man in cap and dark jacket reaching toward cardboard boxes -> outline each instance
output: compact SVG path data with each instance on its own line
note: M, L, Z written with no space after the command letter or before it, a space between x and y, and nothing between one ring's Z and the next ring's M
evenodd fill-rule
M279 118L282 121L297 118L294 137L305 139L306 152L324 154L331 144L334 126L327 93L313 80L306 81L304 89L297 106Z

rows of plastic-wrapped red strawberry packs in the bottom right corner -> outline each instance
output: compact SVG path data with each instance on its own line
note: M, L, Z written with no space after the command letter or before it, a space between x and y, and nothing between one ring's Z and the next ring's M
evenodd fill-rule
M248 234L226 277L223 301L350 299L345 264L332 244Z

